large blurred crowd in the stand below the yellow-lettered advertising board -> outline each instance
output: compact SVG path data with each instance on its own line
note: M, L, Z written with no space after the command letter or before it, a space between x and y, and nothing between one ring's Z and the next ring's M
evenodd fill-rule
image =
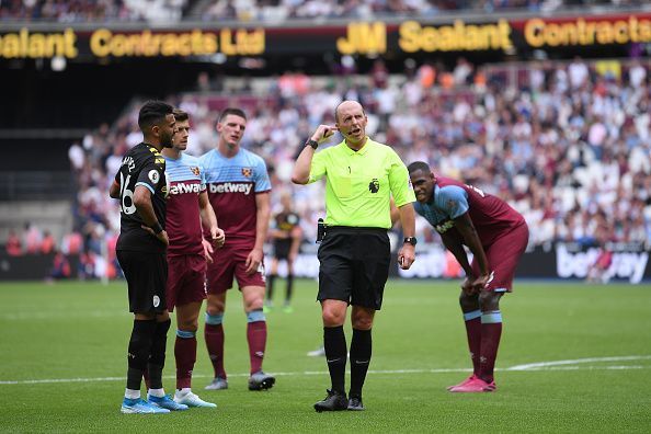
M219 108L236 102L247 110L242 144L266 160L273 206L283 193L294 196L308 240L324 214L323 186L295 191L293 161L310 128L334 123L333 107L350 99L367 107L367 133L393 146L406 163L426 161L437 174L512 204L529 225L529 245L615 241L649 248L649 64L640 61L581 59L511 69L477 69L460 59L449 71L423 64L391 76L378 60L367 76L287 72L260 85L247 83L239 96L196 92L170 101L191 114L192 155L214 147ZM101 256L102 240L108 249L115 243L118 204L106 191L122 156L141 140L136 107L70 147L79 184L76 233L92 258ZM422 220L416 235L439 242Z

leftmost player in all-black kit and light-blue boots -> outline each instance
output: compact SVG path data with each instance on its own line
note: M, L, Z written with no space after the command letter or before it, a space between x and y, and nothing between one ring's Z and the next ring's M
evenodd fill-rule
M128 346L127 386L123 413L169 413L187 410L165 396L162 369L170 316L165 302L170 241L165 224L165 160L162 148L172 146L176 132L172 106L149 101L138 114L145 141L132 148L110 189L121 203L121 229L116 252L128 284L134 328ZM142 373L149 372L148 401L140 399Z

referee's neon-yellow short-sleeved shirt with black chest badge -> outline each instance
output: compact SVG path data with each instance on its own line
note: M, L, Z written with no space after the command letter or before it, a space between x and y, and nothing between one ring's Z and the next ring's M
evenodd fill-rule
M358 151L345 141L312 157L310 179L326 176L326 225L391 227L390 197L397 206L415 202L407 167L390 147L366 139Z

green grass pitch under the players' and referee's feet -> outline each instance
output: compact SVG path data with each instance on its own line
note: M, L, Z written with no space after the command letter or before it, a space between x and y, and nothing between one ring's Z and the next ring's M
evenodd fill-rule
M218 408L121 414L132 328L126 286L0 285L0 432L651 432L651 286L516 282L501 308L498 391L445 390L469 367L458 282L390 281L376 316L365 412L316 413L329 387L316 283L298 281L294 313L267 313L264 369L247 390L241 296L225 317L228 390L205 391L212 367L199 324L194 391ZM284 282L276 284L276 306ZM202 316L203 319L203 316ZM202 322L202 321L199 321ZM174 388L169 334L164 386ZM346 323L350 343L350 322Z

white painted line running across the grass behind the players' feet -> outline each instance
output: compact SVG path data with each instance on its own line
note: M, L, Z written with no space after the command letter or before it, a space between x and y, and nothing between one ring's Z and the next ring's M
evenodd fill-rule
M572 361L539 362L527 365L516 365L507 368L498 368L495 370L625 370L625 369L651 369L651 365L616 365L616 366L571 366L573 364L595 363L595 362L625 362L625 361L646 361L651 359L651 355L644 356L617 356L617 357L590 357L576 358ZM467 368L439 368L439 369L387 369L369 370L368 374L395 375L395 374L449 374L468 373L472 369ZM294 373L270 373L276 377L312 376L328 375L326 370L305 370ZM249 374L229 374L229 377L248 377ZM163 378L173 379L174 376L164 376ZM193 375L193 378L213 378L212 375ZM46 385L56 382L101 382L101 381L124 381L125 377L96 377L96 378L45 378L30 380L0 380L1 385Z

